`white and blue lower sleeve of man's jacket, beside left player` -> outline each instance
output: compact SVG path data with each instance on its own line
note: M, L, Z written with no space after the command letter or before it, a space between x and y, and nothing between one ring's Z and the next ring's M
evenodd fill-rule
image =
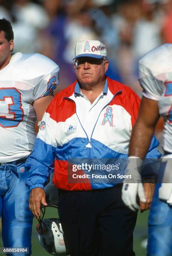
M55 121L50 118L50 114L45 112L32 154L26 161L26 169L29 172L26 185L30 189L43 188L54 167L57 144L51 131L53 122Z

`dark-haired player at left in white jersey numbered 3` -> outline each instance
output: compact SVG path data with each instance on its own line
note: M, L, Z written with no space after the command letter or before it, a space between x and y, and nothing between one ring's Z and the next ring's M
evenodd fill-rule
M35 122L58 85L59 67L41 54L12 54L13 38L10 22L0 19L0 217L4 247L27 247L30 255L33 215L25 161L35 141Z

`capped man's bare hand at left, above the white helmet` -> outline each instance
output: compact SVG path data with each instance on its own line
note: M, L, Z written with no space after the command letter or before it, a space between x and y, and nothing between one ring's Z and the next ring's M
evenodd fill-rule
M40 205L47 206L44 189L36 187L31 190L29 197L29 208L35 218L40 218Z

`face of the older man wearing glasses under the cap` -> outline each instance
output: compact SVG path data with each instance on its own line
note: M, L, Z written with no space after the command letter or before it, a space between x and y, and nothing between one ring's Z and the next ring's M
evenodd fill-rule
M98 84L105 78L105 72L108 68L108 61L90 57L81 57L76 59L75 74L81 84Z

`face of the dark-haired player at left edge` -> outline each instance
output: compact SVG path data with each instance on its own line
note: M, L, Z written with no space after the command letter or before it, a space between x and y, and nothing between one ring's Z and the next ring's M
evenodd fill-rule
M0 31L0 69L9 63L13 47L13 40L7 41L5 32Z

